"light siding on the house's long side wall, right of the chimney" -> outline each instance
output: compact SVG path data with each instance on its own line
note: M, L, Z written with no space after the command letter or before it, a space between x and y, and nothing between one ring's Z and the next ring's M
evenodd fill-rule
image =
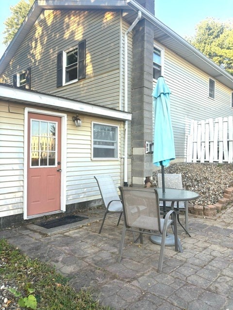
M176 157L185 158L190 121L232 115L231 90L215 80L215 99L209 98L209 78L213 77L166 48L164 77L171 91Z

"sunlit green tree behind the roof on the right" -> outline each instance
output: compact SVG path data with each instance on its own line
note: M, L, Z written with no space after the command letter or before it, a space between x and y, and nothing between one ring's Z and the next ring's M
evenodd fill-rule
M233 75L233 23L206 18L197 25L196 35L187 41Z

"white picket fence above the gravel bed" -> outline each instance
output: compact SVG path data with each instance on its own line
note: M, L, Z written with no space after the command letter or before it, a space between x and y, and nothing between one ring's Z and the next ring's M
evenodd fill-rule
M233 117L191 121L187 162L233 162Z

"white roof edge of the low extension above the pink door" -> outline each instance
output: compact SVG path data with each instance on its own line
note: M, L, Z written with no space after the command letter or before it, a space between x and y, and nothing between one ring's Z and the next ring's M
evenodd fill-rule
M3 83L0 83L0 100L29 104L37 108L43 107L60 111L79 112L120 121L130 121L132 119L132 114L128 112Z

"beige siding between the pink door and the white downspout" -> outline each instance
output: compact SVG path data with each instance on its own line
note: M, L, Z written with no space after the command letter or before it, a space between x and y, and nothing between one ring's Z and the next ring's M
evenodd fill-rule
M120 185L120 158L117 160L91 160L91 123L119 126L118 151L123 122L80 115L82 126L77 128L68 115L67 121L67 204L100 199L95 174L111 174L116 186ZM122 144L123 145L123 144Z

